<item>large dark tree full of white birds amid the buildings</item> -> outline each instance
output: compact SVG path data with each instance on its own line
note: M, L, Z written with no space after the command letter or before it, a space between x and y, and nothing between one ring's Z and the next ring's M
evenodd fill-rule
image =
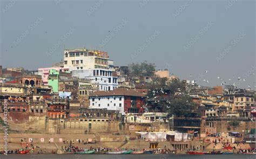
M154 109L169 115L190 116L196 108L192 98L187 94L185 84L180 80L168 81L166 78L154 78L148 92L148 98L154 99ZM154 110L154 111L157 111Z

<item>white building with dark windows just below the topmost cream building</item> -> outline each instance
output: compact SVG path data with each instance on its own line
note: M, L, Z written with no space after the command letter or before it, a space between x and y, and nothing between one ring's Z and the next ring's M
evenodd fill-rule
M118 87L116 72L103 68L74 70L72 77L91 79L91 84L98 87L99 91L112 91Z

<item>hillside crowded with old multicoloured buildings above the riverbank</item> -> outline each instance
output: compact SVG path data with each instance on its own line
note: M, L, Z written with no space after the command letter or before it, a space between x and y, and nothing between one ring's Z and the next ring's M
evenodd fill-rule
M59 144L60 137L80 135L120 147L134 147L138 139L149 148L168 144L175 150L221 149L226 141L255 146L250 88L199 86L146 61L114 66L108 53L98 50L64 50L63 57L34 71L0 66L1 125L9 126L10 140L41 143L57 135L49 143Z

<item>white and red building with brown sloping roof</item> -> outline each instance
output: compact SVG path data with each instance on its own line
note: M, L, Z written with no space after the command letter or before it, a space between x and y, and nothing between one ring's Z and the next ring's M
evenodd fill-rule
M119 113L143 113L143 98L144 95L134 89L96 91L90 95L89 108L118 110Z

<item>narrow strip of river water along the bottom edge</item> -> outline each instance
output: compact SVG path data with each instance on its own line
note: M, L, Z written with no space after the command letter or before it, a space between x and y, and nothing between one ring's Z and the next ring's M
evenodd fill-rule
M74 155L74 154L65 154L65 155L52 155L52 154L25 154L25 155L18 155L18 154L10 154L8 156L6 155L0 155L0 158L26 158L26 159L36 159L36 158L47 158L47 159L144 159L144 158L150 158L150 159L167 159L167 158L192 158L192 159L205 159L205 158L212 158L212 159L240 159L240 158L246 158L246 159L256 159L256 155L136 155L136 154L129 154L129 155Z

